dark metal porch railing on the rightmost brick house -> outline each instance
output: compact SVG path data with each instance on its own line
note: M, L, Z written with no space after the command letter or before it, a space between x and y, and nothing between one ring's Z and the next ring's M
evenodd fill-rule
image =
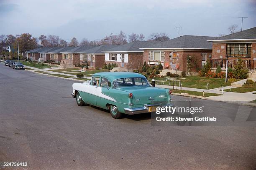
M254 69L254 60L242 60L243 68L246 70ZM228 67L234 68L237 65L238 60L228 60ZM217 68L220 65L221 68L226 68L226 59L211 59L211 67Z

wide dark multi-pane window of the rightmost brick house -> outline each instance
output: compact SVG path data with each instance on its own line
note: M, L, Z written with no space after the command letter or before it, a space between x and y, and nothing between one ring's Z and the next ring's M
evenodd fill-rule
M251 57L251 44L227 44L226 57Z

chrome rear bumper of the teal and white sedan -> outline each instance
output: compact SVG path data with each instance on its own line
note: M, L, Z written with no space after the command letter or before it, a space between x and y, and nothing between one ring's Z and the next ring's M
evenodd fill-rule
M136 115L140 113L148 113L148 107L149 106L157 106L157 107L166 107L166 106L173 106L172 103L167 105L161 105L161 104L145 104L143 107L134 107L134 108L124 108L125 114L127 115Z

